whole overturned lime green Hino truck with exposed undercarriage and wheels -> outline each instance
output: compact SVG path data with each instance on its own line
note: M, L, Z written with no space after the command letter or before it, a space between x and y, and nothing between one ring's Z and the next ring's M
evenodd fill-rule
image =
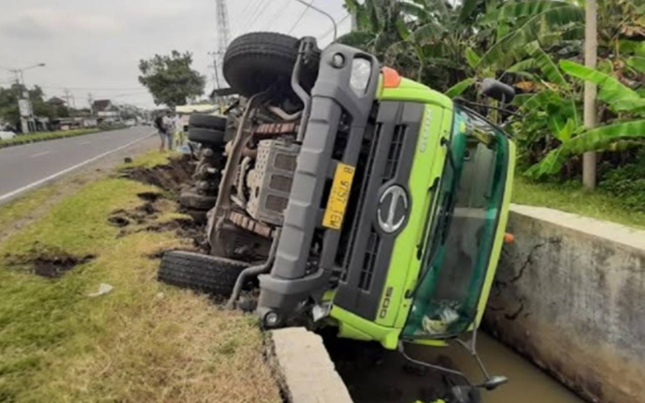
M509 137L342 44L246 34L223 71L241 101L226 119L191 117L188 135L217 156L203 168L217 177L200 185L213 197L211 253L166 253L159 278L230 295L229 306L259 284L267 328L335 326L417 363L406 344L475 353L508 217ZM482 371L481 388L506 382Z

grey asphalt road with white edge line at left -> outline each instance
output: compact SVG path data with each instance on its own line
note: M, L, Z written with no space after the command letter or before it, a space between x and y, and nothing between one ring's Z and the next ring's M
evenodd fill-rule
M0 149L0 203L143 141L149 126L99 132Z

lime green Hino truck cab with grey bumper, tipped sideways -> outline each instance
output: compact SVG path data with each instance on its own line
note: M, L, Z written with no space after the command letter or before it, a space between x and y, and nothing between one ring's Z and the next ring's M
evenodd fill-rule
M445 95L332 44L258 313L309 305L339 336L444 344L477 326L504 237L515 147Z

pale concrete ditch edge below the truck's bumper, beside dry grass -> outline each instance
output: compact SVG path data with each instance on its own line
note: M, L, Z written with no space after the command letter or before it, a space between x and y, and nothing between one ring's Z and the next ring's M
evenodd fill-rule
M352 403L323 339L305 328L270 332L270 351L288 402Z

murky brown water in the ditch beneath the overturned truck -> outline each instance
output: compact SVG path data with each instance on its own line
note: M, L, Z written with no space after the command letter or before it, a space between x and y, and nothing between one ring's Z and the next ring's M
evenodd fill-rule
M408 366L395 351L383 351L375 344L325 338L341 377L356 403L430 402L446 397L450 379L423 368ZM582 403L571 391L539 368L502 346L490 336L478 335L478 351L493 375L509 378L495 391L482 392L484 403ZM408 346L415 359L459 368L471 380L480 380L474 359L461 347L428 348Z

